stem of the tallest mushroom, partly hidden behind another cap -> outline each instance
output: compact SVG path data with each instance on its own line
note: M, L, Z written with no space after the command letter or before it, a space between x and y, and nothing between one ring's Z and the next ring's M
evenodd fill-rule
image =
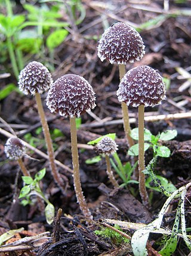
M122 77L124 77L124 75L125 75L125 65L119 64L120 81L122 80ZM131 147L134 145L134 141L133 141L133 138L131 138L130 136L131 128L130 128L130 121L129 121L129 114L128 114L128 106L126 103L122 102L121 107L122 107L122 115L124 119L124 131L128 141L128 146Z

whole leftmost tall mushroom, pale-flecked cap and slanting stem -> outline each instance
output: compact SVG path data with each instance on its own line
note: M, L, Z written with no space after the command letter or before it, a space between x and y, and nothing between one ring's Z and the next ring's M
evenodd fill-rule
M41 119L42 129L44 132L45 141L47 143L47 151L50 159L50 166L53 173L54 181L60 187L63 192L63 182L61 180L60 174L57 171L55 164L53 143L51 140L50 131L47 124L47 119L45 117L44 109L42 107L41 94L47 91L53 79L51 77L48 69L42 65L40 62L30 62L19 75L19 89L24 92L24 94L35 95L36 104L38 106L38 113Z

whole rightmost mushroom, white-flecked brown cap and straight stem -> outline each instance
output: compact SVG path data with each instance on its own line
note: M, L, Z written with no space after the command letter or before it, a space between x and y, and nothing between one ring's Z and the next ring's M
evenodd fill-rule
M127 106L138 107L138 173L139 190L144 205L148 206L144 170L144 107L154 107L165 99L165 85L158 71L148 66L128 71L117 91L118 100Z

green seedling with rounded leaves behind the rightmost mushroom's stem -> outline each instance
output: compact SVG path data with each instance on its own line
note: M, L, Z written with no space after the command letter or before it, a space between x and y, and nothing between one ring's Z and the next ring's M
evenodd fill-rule
M149 147L153 148L153 156L161 156L161 157L169 157L171 152L170 149L166 146L161 145L162 140L172 140L177 136L177 131L175 129L167 130L158 135L153 135L149 129L144 129L144 151L149 149ZM134 140L138 140L138 128L134 128L131 131L131 137ZM134 146L130 147L128 150L128 154L131 156L138 155L138 143L134 144Z

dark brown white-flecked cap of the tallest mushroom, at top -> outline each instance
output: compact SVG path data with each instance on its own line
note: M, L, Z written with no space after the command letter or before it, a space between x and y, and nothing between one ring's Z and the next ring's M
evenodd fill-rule
M111 64L133 63L145 53L140 34L123 22L117 22L104 31L97 49L101 61L106 59Z

